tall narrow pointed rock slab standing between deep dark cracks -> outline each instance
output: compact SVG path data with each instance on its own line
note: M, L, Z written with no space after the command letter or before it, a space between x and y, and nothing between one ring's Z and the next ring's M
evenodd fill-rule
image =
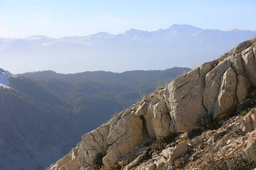
M237 86L236 73L232 68L229 68L221 77L221 88L218 95L218 100L215 104L215 113L213 118L219 117L221 114L232 114L236 105L236 86Z

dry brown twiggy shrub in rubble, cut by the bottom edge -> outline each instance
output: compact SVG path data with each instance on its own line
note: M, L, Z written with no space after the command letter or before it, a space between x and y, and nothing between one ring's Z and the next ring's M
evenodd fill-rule
M200 170L228 170L226 162L224 158L209 153L197 167Z

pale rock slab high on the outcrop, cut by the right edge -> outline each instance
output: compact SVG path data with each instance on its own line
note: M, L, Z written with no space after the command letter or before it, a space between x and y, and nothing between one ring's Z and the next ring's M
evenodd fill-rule
M244 70L249 78L251 85L256 86L256 61L253 54L253 46L242 51Z

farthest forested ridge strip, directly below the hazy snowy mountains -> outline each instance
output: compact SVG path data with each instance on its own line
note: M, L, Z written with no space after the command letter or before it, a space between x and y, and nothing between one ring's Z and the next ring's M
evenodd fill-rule
M126 83L129 85L140 85L141 83L155 83L157 81L169 80L184 71L190 71L190 68L174 67L166 70L135 70L125 71L122 73L113 73L110 71L86 71L76 74L59 74L54 71L37 71L18 74L30 79L49 80L60 79L64 82L76 83L84 81L117 81L119 83Z

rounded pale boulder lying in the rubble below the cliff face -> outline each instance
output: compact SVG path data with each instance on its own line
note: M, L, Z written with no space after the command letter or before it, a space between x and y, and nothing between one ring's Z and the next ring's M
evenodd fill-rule
M188 144L185 142L178 143L175 147L169 147L162 150L163 156L167 159L175 160L180 158L182 154L187 154L189 152Z

